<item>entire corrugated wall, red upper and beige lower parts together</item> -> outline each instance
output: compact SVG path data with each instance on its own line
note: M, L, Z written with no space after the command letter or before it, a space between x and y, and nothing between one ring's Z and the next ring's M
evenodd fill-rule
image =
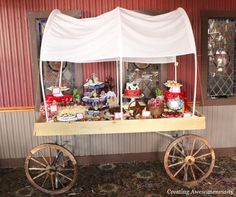
M96 16L116 6L134 10L173 10L183 7L191 20L195 34L198 61L201 61L200 10L236 10L235 0L0 0L0 108L34 106L33 79L31 75L31 49L27 11L44 11L59 8L79 9L83 17ZM179 78L191 92L193 58L179 60ZM107 64L114 74L114 66ZM87 66L86 78L97 65ZM102 79L107 71L99 75ZM173 70L170 69L170 75ZM200 91L198 91L200 92ZM190 94L191 96L191 94ZM214 147L235 147L235 106L202 108L207 116L207 129L196 132L205 136ZM33 122L37 114L28 112L0 113L0 158L22 158L35 145L43 142L60 144L69 142L75 155L101 155L163 151L168 143L155 133L116 134L68 137L34 137Z

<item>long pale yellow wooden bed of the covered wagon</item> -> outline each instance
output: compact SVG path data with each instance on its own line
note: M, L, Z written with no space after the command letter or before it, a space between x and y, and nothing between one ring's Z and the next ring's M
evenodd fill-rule
M113 121L36 122L35 136L91 135L205 129L205 117L199 112L188 118L160 118Z

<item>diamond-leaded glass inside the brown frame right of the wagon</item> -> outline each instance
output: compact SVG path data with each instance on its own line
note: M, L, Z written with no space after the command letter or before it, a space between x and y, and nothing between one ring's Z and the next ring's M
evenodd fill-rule
M208 20L208 97L235 96L235 19Z

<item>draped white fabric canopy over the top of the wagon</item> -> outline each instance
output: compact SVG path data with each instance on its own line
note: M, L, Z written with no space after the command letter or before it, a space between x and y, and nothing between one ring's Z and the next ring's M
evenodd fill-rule
M117 7L94 18L76 19L54 10L47 21L41 61L76 63L175 62L196 53L188 16L182 8L149 16Z

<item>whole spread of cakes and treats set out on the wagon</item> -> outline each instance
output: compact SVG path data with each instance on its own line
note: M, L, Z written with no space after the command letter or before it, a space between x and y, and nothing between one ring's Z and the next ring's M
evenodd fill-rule
M156 97L141 105L144 94L142 94L139 83L137 81L127 82L123 97L131 99L131 101L129 102L128 110L123 108L123 118L125 120L140 119L144 109L149 113L149 117L154 119L184 117L187 102L185 92L180 89L182 84L168 80L164 85L169 88L168 91L162 91L157 88L154 92ZM75 100L79 94L78 88L74 88L73 96L54 96L54 94L46 96L50 121L113 120L115 114L120 113L119 100L116 97L116 93L111 90L106 91L104 88L105 83L99 81L94 73L86 80L83 87L82 102L76 102ZM65 87L63 88L66 91ZM52 93L54 90L61 92L61 89L57 86L52 86L50 89ZM133 102L135 105L131 106ZM41 106L40 112L42 117L45 118L45 108L43 106Z

